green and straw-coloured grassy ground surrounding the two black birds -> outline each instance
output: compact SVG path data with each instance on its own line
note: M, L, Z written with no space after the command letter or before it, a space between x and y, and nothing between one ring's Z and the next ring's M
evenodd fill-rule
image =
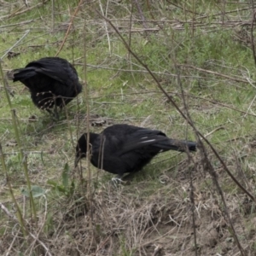
M237 181L254 195L253 7L241 2L172 2L135 1L132 11L131 4L124 1L80 6L59 56L74 64L84 92L67 106L59 121L35 108L24 86L11 81L8 84L14 96L10 96L10 106L1 80L4 164L0 168L6 166L7 171L0 172L1 254L255 253L254 202L238 188L209 147L205 151L200 148L192 158L175 152L160 154L117 188L109 183L111 174L92 166L88 187L85 162L79 170L73 168L77 138L86 131L87 108L90 131L126 123L159 129L169 137L197 139L193 128L142 66L143 61L186 113L184 93L196 130L207 137ZM3 57L4 73L53 56L60 49L79 1L55 0L54 20L51 2L42 3L33 0L26 7L21 0L3 2L0 55L30 30L12 49L19 55ZM97 12L102 14L101 9L140 61ZM17 145L12 108L21 147ZM94 122L102 122L102 126L92 126ZM27 194L24 163L33 196ZM210 166L218 178L212 177ZM32 201L36 218L32 217ZM20 225L14 217L18 207L24 220ZM22 225L26 234L22 234ZM197 250L191 234L196 234Z

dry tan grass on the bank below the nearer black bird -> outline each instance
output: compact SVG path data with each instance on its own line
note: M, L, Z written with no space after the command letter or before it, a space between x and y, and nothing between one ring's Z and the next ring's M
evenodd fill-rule
M42 199L44 212L39 215L38 225L49 230L39 233L40 241L52 255L192 255L195 245L191 212L195 207L198 253L239 254L225 221L222 201L215 191L208 189L211 178L201 171L183 163L177 176L163 174L165 183L154 182L154 193L144 180L118 188L105 183L96 189L90 209L84 195L74 195L68 201L49 196L50 203ZM195 205L190 200L189 172L193 173ZM221 170L218 172L223 174ZM200 188L199 184L205 187ZM249 253L255 239L251 218L253 202L237 192L224 194L236 235ZM49 212L52 214L50 222L45 218ZM18 230L10 230L12 222L9 220L5 224L9 232L2 242L6 246L13 242L12 251L15 252L15 249L20 250L23 238L14 237ZM31 246L25 254L35 250L33 241L28 238ZM38 246L37 252L45 250Z

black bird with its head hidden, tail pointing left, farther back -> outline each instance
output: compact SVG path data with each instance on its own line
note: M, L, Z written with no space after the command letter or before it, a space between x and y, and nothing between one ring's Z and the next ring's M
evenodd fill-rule
M32 61L24 68L8 73L9 79L20 81L30 90L32 102L51 113L50 108L63 108L81 90L78 73L67 60L45 57Z

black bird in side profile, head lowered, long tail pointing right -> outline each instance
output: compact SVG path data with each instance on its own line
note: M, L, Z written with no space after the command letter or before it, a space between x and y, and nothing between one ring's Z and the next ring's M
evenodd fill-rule
M86 157L87 134L84 133L76 148L75 166ZM196 143L173 140L162 131L133 125L112 125L102 133L90 132L90 162L107 172L118 174L140 171L152 158L167 150L195 151Z

